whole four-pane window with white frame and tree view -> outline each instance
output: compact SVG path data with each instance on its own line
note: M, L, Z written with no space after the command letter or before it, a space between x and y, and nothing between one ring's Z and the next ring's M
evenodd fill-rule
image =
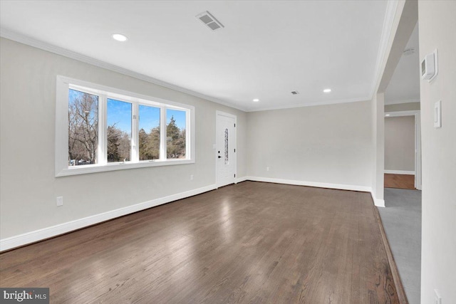
M194 112L189 105L58 76L56 176L193 163Z

